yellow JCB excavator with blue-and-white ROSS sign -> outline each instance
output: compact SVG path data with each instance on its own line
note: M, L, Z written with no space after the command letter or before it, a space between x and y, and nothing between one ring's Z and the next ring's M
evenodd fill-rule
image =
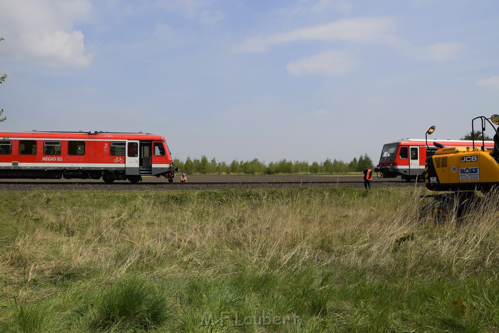
M475 132L474 124L481 123L481 130ZM484 134L486 125L494 128L494 149L485 147ZM499 115L490 118L480 116L472 120L472 147L444 147L438 142L433 144L439 148L425 163L425 185L430 191L441 191L433 195L434 200L427 204L422 218L431 218L442 222L450 216L458 219L474 211L479 205L481 196L499 188L499 132L494 125L499 125ZM435 126L426 132L433 133ZM482 132L482 140L475 140L475 134Z

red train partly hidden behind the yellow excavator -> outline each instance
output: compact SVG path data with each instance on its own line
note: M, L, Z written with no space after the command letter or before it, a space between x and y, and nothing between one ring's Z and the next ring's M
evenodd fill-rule
M379 164L374 168L374 172L381 174L380 178L401 176L406 181L422 180L427 155L439 149L435 143L440 143L444 147L473 147L471 140L428 140L428 147L425 139L402 139L390 142L383 145ZM494 149L494 141L475 140L475 148L481 148L482 144L484 149Z

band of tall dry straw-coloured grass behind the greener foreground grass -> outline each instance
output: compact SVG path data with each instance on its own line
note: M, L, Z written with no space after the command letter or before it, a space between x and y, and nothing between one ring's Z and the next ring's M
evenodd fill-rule
M80 269L109 277L131 268L177 274L196 265L216 272L227 259L260 268L332 262L391 269L403 254L407 272L431 260L461 278L495 264L497 195L467 221L434 225L418 219L428 200L419 190L257 193L192 193L179 203L160 193L120 195L120 203L103 193L106 204L75 194L76 206L55 193L57 206L17 208L17 236L3 258L6 267L32 267L31 278Z

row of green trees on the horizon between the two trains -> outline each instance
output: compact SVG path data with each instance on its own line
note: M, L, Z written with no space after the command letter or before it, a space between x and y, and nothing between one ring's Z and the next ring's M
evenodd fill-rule
M323 162L288 161L281 159L277 162L265 164L257 158L251 161L233 160L231 163L218 162L215 157L209 160L206 156L201 158L187 157L185 161L173 159L174 166L179 172L186 174L215 175L215 174L248 174L248 175L275 175L275 174L338 174L361 172L366 166L372 169L373 161L367 155L354 157L350 162L327 158Z

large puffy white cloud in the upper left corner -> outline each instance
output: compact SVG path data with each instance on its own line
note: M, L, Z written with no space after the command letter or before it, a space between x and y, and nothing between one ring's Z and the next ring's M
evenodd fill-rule
M0 31L4 56L49 67L86 67L93 55L74 30L88 18L88 0L0 0Z

